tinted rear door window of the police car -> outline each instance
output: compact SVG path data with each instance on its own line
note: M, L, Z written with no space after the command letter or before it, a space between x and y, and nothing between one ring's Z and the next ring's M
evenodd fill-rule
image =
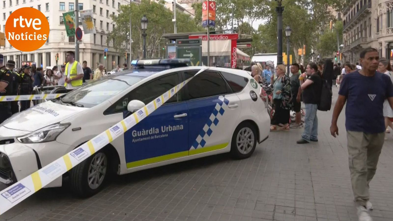
M194 76L196 71L184 72L185 78ZM226 83L217 72L204 71L193 78L188 84L189 99L205 98L228 92Z

